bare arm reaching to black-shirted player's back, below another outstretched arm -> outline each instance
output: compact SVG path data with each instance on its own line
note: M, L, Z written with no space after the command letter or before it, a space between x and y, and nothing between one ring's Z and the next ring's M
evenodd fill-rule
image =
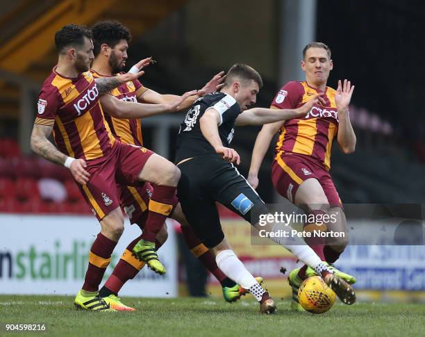
M110 94L104 94L101 96L100 101L103 110L105 110L108 115L117 118L131 119L144 118L178 110L180 104L182 104L185 99L195 94L197 94L196 90L185 92L182 96L176 96L176 99L174 99L171 103L163 104L142 104L122 101Z

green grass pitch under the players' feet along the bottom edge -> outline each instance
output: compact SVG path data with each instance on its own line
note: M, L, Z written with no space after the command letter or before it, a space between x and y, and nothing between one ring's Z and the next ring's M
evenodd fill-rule
M41 336L424 336L424 304L340 302L322 315L294 313L278 300L275 315L260 315L251 297L223 299L124 298L131 313L77 311L74 297L0 295L0 322L46 323ZM16 334L0 332L1 336Z

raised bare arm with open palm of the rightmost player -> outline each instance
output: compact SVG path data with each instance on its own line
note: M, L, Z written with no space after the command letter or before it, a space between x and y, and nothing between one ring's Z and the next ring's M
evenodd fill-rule
M356 149L356 133L350 122L349 104L353 95L354 85L344 80L344 85L338 81L337 94L335 95L335 104L338 108L338 145L344 154L351 154Z

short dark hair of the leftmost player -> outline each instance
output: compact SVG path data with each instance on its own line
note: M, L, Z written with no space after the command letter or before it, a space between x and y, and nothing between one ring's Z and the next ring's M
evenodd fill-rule
M58 53L65 53L66 47L82 47L84 37L92 39L92 32L86 26L78 26L78 24L63 26L55 34L55 45Z

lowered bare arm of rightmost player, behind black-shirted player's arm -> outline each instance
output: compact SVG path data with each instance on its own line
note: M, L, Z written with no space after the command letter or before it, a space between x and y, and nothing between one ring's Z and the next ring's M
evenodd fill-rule
M267 150L269 149L270 142L272 142L274 134L281 128L283 122L274 122L264 124L263 129L258 133L256 144L254 145L251 157L251 166L249 167L248 182L253 188L258 187L258 172L260 172L261 163Z

